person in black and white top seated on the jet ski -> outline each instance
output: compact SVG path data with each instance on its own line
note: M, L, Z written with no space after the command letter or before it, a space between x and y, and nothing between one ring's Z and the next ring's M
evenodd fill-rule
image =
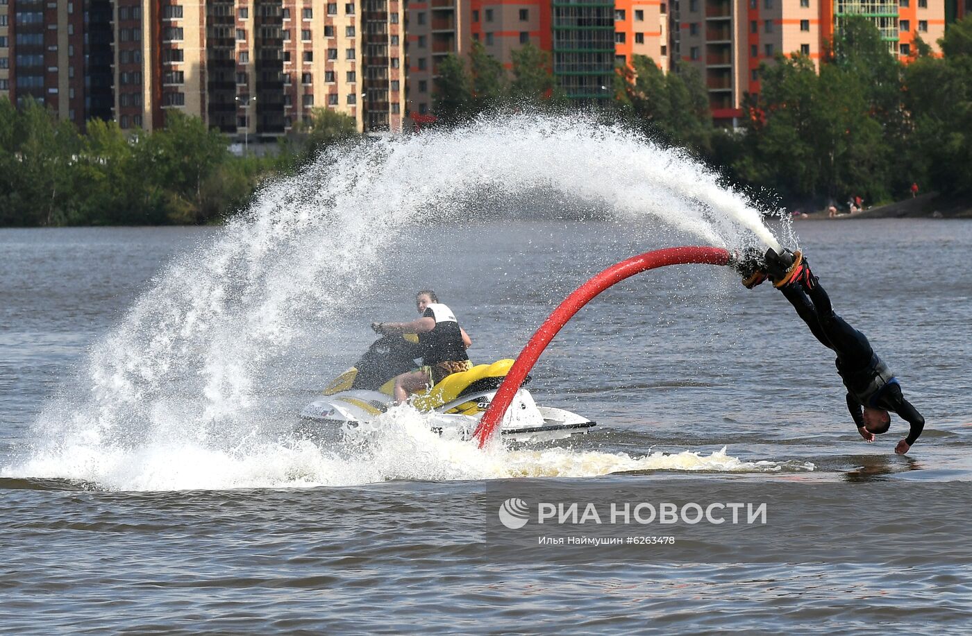
M422 368L403 373L395 379L395 403L401 404L413 393L437 385L472 364L466 350L472 346L469 334L459 326L452 310L438 302L432 289L415 294L415 308L422 318L410 322L372 322L371 328L382 335L414 333L422 348Z

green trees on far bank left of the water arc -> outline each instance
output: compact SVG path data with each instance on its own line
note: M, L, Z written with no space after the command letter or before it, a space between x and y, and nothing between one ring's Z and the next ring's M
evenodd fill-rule
M226 135L179 111L152 132L91 119L81 133L37 102L0 98L0 226L218 222L264 181L356 134L351 117L316 109L277 152L237 157Z

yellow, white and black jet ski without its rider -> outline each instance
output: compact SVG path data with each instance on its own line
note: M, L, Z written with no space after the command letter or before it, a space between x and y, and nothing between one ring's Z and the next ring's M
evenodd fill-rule
M396 376L416 370L415 358L420 355L413 335L379 338L321 397L304 407L300 417L341 430L378 417L392 406ZM411 396L411 404L432 414L435 432L470 439L513 362L497 360L454 373L425 393ZM521 387L506 410L500 433L504 441L545 442L586 433L594 425L565 409L539 406L530 391Z

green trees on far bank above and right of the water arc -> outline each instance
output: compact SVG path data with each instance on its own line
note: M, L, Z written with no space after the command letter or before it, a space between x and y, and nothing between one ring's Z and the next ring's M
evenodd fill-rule
M798 53L764 63L736 129L712 124L694 65L664 73L636 55L632 68L616 69L610 117L791 206L822 208L850 195L889 202L916 183L972 194L972 18L950 24L939 44L936 56L917 39L905 63L869 19L847 19L818 68ZM523 101L565 103L549 56L530 45L513 52L511 76L478 43L468 64L448 55L438 72L434 113L444 125Z

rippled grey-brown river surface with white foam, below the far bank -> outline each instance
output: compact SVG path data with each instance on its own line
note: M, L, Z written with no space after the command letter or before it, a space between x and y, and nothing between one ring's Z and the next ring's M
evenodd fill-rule
M601 269L700 242L660 221L604 218L429 230L375 254L370 285L330 289L326 313L302 308L300 324L323 316L320 328L265 346L259 367L226 381L244 388L219 399L213 373L201 389L180 384L179 359L159 353L167 327L131 325L139 299L173 278L166 264L192 271L223 229L0 230L0 629L967 628L972 224L795 223L835 309L928 422L906 456L893 453L897 418L875 444L856 436L830 352L779 292L712 266L609 289L540 358L538 402L597 420L587 436L478 452L433 439L407 410L371 441L291 436L302 405L370 342L367 323L409 318L416 289L433 287L469 331L470 355L491 361L515 356ZM248 319L235 339L269 338ZM222 348L193 373L242 364L226 353L234 338L193 341ZM124 361L139 351L154 366ZM109 374L116 362L141 384ZM112 382L131 384L112 393ZM122 403L106 410L111 400ZM513 531L497 517L508 497L607 507L679 496L769 502L769 519L742 534L601 526L597 536L675 540L607 550L538 545L557 531L593 537L590 525L532 519ZM811 546L820 552L801 552Z

